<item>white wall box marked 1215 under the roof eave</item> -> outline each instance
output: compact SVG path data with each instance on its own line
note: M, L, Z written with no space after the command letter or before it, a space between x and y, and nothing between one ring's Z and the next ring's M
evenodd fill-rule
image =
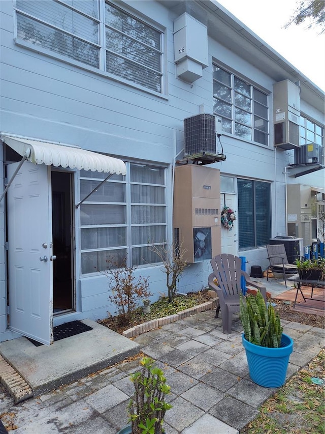
M174 59L177 76L190 83L209 66L207 26L186 12L174 20Z

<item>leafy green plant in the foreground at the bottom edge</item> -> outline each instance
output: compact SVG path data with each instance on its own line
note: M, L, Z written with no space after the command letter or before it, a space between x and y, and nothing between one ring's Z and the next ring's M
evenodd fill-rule
M135 393L128 403L130 425L118 434L163 434L165 413L172 405L165 401L170 393L164 372L154 365L150 357L140 361L142 369L131 375Z

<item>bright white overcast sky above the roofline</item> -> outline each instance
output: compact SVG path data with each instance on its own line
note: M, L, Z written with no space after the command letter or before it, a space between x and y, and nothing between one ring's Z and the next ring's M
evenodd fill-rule
M283 26L294 15L297 0L217 0L289 63L325 91L325 33L307 24Z

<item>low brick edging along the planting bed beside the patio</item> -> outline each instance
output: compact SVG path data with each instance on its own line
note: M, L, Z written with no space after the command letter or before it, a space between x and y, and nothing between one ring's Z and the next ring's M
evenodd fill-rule
M142 333L149 332L150 330L157 329L161 326L165 326L166 324L174 323L178 320L183 320L188 316L195 315L199 312L203 312L205 310L211 310L214 307L217 307L218 298L214 298L211 301L207 301L206 303L200 304L199 306L190 307L185 310L181 310L174 315L163 316L162 318L158 318L156 320L148 321L147 323L139 324L135 327L131 327L131 329L124 330L122 333L123 336L127 338L135 337L141 335Z

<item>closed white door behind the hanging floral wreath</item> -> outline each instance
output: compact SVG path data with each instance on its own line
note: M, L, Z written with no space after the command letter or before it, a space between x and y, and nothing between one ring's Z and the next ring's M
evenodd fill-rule
M237 196L236 194L221 194L220 209L230 207L232 210L237 211ZM237 212L236 212L237 218ZM230 253L238 255L238 221L235 220L232 229L228 230L221 225L221 253Z

